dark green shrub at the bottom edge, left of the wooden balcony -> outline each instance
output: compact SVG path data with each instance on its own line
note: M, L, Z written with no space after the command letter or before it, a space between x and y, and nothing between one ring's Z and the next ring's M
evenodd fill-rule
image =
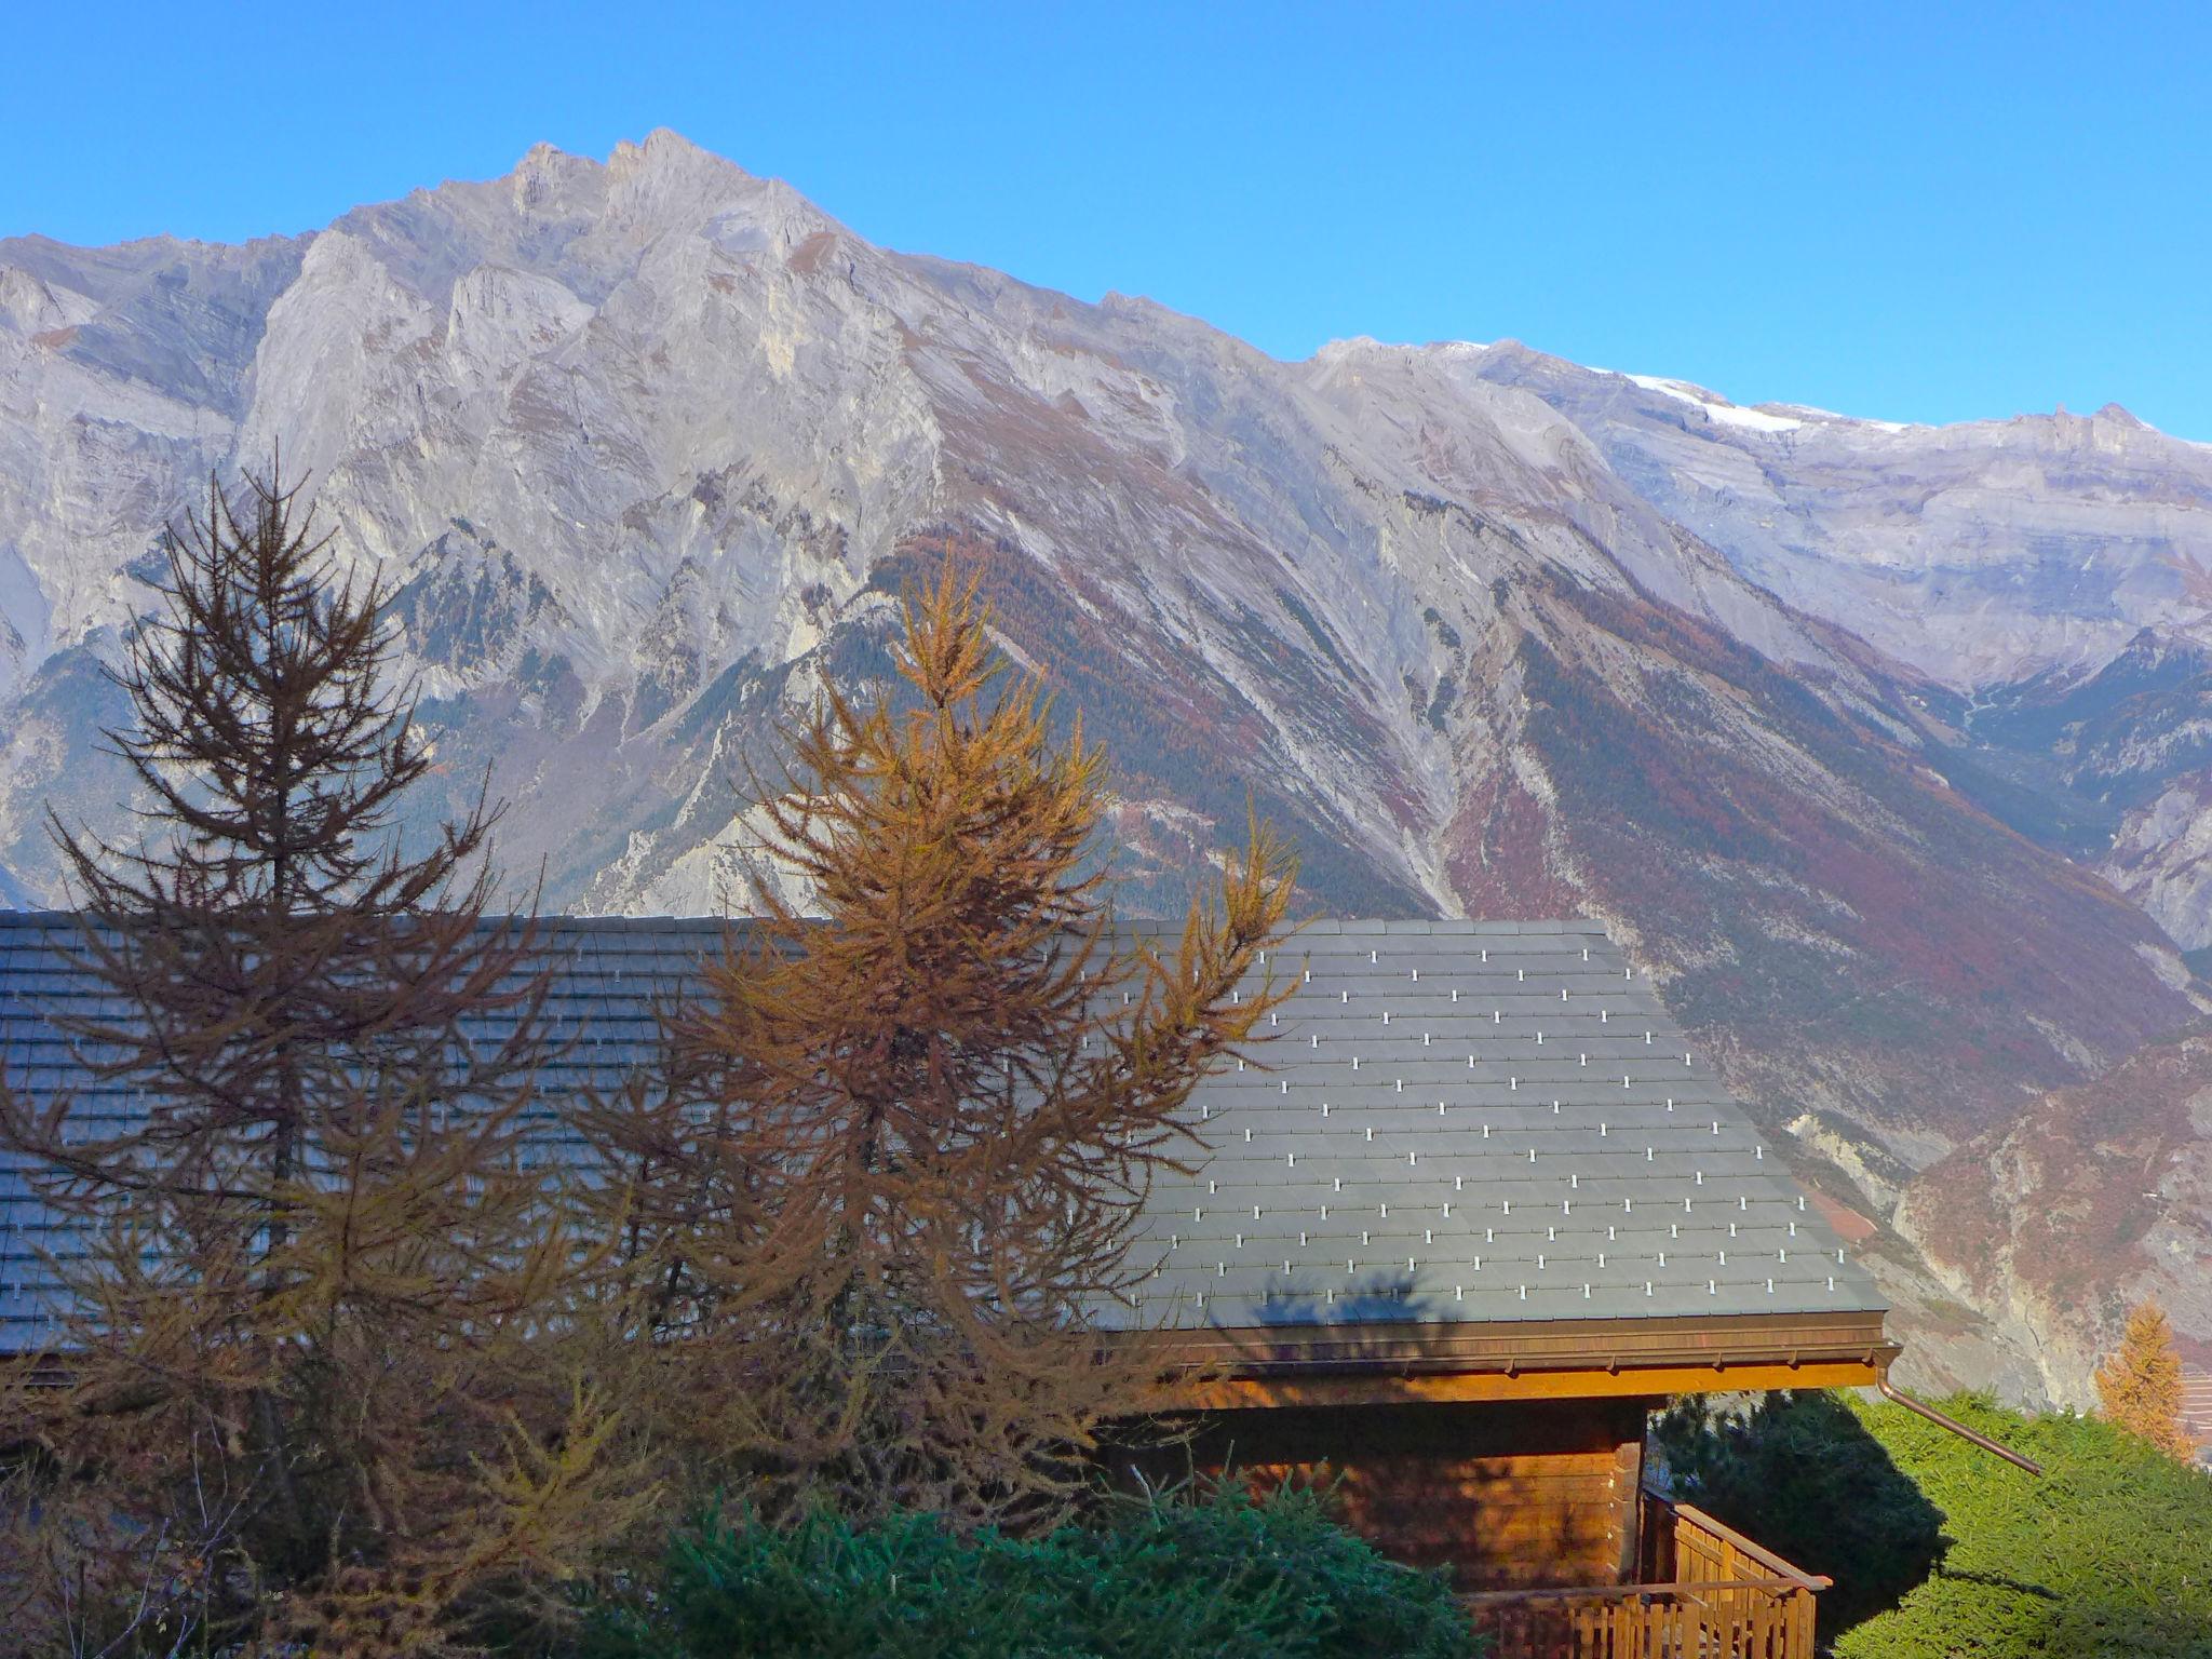
M933 1517L785 1531L701 1517L588 1626L593 1659L1467 1659L1440 1575L1378 1557L1303 1489L1128 1502L1040 1540Z

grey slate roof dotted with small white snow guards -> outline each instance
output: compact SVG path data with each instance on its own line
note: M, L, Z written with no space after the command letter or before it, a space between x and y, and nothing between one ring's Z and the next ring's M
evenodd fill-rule
M546 918L549 1102L653 1055L653 998L723 922ZM84 1088L46 1020L97 998L75 920L0 914L0 1057ZM1210 1146L1148 1203L1135 1318L1175 1327L1500 1325L1882 1307L1597 922L1312 922L1252 1062L1192 1097ZM546 1106L549 1152L562 1130ZM38 1340L71 1239L0 1152L0 1349Z

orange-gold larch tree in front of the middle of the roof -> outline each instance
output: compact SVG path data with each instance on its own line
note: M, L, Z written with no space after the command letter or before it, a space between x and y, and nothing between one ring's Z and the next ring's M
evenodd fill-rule
M973 577L905 604L902 686L825 692L772 787L763 885L664 1066L586 1115L626 1232L661 1444L768 1513L1064 1511L1157 1358L1126 1310L1152 1177L1203 1152L1194 1084L1285 995L1292 865L1254 823L1210 900L1113 925L1106 759L1004 684Z

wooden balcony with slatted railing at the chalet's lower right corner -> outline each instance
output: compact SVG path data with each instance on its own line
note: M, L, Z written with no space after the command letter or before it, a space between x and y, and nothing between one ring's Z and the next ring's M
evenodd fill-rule
M1814 1659L1829 1579L1650 1493L1639 1533L1641 1584L1464 1597L1493 1659Z

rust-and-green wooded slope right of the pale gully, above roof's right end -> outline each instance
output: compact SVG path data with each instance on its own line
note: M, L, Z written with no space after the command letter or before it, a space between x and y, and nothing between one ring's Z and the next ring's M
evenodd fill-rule
M1553 867L1674 967L1670 1004L1730 1046L1754 1097L1878 1124L1918 1161L2002 1119L2008 1084L2068 1075L2064 1033L2099 1033L2075 1055L2095 1068L2172 1029L2177 998L2141 1006L2135 973L2081 973L2084 940L2163 962L2154 929L2115 927L2104 883L1966 807L1885 710L1823 699L1666 611L1557 602L1573 626L1515 664ZM1624 655L1635 672L1606 672ZM1491 880L1455 872L1473 909L1526 902L1511 860Z

